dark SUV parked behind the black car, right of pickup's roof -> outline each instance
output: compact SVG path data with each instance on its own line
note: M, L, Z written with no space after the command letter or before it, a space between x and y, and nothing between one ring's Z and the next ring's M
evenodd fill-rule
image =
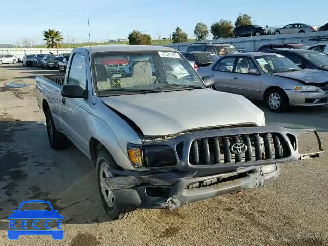
M215 43L194 43L187 47L186 52L203 51L216 55L227 55L239 53L239 50L230 44L215 44Z

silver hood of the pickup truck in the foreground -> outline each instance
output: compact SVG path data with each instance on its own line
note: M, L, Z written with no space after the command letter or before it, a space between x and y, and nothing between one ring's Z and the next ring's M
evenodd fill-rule
M102 98L132 120L145 136L173 135L191 129L265 124L264 113L243 96L195 89Z

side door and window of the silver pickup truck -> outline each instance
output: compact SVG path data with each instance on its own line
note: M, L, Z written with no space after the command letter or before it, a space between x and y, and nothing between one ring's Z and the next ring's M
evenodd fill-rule
M84 54L74 53L66 78L68 85L78 85L85 90L87 89L87 62ZM76 146L88 153L89 139L87 139L87 134L83 132L88 124L86 108L90 108L89 98L59 96L60 119L64 132Z

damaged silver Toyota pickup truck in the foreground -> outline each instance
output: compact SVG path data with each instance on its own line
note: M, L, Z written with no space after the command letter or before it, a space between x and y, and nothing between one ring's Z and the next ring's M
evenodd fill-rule
M265 127L259 108L209 89L171 48L76 48L65 77L36 77L36 93L51 147L70 139L94 163L112 219L262 186L278 163L322 151L315 130ZM304 131L315 153L299 154Z

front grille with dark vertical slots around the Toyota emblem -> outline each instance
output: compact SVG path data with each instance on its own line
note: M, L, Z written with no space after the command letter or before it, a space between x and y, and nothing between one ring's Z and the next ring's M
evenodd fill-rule
M234 154L231 146L240 142L247 146L242 154ZM189 163L209 165L281 159L290 155L288 145L278 133L200 138L192 142Z

